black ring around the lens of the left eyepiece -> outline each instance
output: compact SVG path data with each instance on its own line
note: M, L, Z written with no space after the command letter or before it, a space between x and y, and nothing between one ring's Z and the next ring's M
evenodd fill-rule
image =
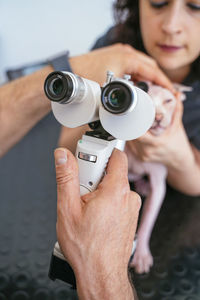
M52 82L55 82L56 79L62 80L63 89L59 95L56 95L51 91ZM56 71L50 73L45 82L44 82L44 91L46 96L54 102L66 103L73 92L73 81L70 76L66 76L66 74Z

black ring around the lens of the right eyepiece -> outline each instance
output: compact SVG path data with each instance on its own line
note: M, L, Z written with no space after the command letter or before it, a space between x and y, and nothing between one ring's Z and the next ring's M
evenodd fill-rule
M113 90L123 90L123 92L125 93L125 102L123 107L114 107L113 105L110 105L109 100L108 100L108 96L111 94L111 92ZM110 83L108 83L105 87L103 87L102 89L102 93L101 93L101 102L103 107L108 111L111 112L113 114L121 114L126 112L130 106L132 105L134 100L134 95L131 91L131 89L123 82L121 81L112 81Z

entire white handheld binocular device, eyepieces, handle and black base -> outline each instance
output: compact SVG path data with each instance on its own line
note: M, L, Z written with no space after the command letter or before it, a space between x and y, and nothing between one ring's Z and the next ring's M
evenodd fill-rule
M115 78L110 71L104 86L70 72L52 72L44 83L55 118L74 128L89 124L78 141L80 194L96 189L105 174L113 149L124 149L125 141L142 136L153 124L155 108L150 96L130 81L130 75ZM72 268L56 243L49 277L76 286Z

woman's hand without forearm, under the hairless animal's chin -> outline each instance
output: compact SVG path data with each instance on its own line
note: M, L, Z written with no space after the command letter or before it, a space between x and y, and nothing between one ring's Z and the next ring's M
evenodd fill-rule
M177 104L171 125L159 135L147 132L144 136L127 143L136 157L145 162L159 162L167 167L180 165L190 157L191 149L182 123L183 104L177 95Z

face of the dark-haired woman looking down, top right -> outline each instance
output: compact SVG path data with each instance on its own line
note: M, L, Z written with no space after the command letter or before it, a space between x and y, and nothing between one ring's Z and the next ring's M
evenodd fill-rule
M139 10L146 51L181 81L200 54L200 0L139 0Z

